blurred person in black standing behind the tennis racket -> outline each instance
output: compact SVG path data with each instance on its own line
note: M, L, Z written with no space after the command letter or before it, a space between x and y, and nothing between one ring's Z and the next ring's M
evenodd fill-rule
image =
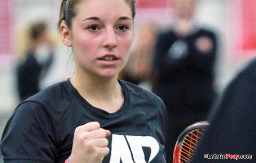
M179 134L203 121L215 98L213 87L217 38L194 21L195 0L175 0L172 28L160 33L154 54L153 92L165 102L169 131L167 162Z

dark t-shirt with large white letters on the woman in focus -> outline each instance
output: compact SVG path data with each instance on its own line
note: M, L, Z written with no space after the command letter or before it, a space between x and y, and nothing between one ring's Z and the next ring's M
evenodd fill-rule
M153 93L125 81L124 104L110 114L89 104L70 81L54 84L22 102L6 124L6 162L64 162L77 126L97 121L109 130L103 162L165 162L166 110Z

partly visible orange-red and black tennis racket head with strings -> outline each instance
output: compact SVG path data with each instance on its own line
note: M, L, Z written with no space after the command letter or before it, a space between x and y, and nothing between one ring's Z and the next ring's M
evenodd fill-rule
M185 128L175 144L173 163L189 162L191 160L208 125L209 122L201 121Z

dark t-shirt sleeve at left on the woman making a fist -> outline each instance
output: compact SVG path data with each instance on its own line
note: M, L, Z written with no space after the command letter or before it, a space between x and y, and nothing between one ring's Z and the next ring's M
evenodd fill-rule
M54 162L57 134L53 119L40 104L19 105L7 122L0 144L4 162Z

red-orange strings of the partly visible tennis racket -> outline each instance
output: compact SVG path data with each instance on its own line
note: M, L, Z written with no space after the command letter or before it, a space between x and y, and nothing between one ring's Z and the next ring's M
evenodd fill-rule
M181 145L180 151L180 162L189 162L190 159L193 157L199 140L203 136L204 129L199 128L193 131L190 131Z

